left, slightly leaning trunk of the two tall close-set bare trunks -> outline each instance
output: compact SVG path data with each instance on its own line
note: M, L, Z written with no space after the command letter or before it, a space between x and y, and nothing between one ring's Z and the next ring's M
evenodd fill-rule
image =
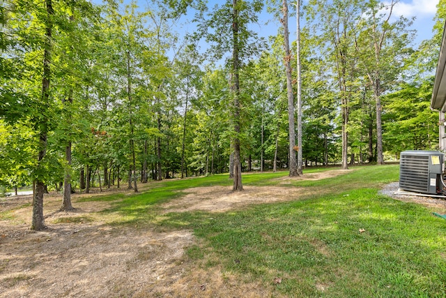
M291 54L289 43L288 30L288 3L286 0L282 1L282 12L284 18L282 25L284 27L284 48L285 57L284 63L286 68L286 94L288 97L288 123L289 123L289 176L298 176L298 164L295 152L295 124L294 124L294 98L293 98L293 80L291 78Z

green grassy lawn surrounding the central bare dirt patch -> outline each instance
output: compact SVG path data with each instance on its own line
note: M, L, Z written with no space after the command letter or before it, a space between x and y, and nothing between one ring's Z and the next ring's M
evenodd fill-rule
M94 200L119 199L104 211L116 225L194 230L198 241L187 255L197 266L220 266L277 295L446 297L446 221L418 204L378 195L398 174L397 165L367 166L318 181L292 180L283 187L311 194L220 214L160 216L158 205L185 188L229 186L226 175L162 181L139 195ZM243 184L279 186L277 178L286 175L247 174Z

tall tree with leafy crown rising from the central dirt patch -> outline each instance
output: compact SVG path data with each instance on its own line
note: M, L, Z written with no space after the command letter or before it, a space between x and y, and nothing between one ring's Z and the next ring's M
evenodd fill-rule
M243 190L241 173L240 138L242 137L241 111L243 103L240 86L240 68L244 60L252 57L259 50L259 39L249 30L248 24L258 20L258 13L263 8L263 2L259 0L226 1L222 6L216 5L213 13L206 20L201 16L199 33L204 36L211 45L212 56L222 59L227 52L231 52L226 60L230 68L230 87L232 103L232 142L231 147L234 156L233 163L233 191Z

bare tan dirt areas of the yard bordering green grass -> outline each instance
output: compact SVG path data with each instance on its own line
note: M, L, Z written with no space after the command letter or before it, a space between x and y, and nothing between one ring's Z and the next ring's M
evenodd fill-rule
M308 174L323 179L343 174L332 170ZM289 184L288 177L279 179ZM224 212L249 204L298 200L304 188L245 186L190 188L178 200L162 204L172 211ZM109 194L109 193L108 193ZM193 263L185 248L195 244L192 232L108 225L98 211L107 202L73 197L75 213L57 212L60 195L45 197L49 229L29 230L31 196L0 199L0 211L13 210L0 221L0 297L265 297L270 288L240 283L217 267ZM66 222L65 218L78 218ZM212 256L209 256L212 258ZM277 293L275 293L277 295Z

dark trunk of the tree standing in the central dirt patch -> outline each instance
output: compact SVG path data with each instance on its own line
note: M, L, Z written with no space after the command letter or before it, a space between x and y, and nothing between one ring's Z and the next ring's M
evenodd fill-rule
M239 39L238 39L238 0L232 0L232 93L233 93L233 124L234 133L233 137L233 150L234 150L234 178L233 178L233 191L243 191L242 185L242 164L240 161L240 81L239 81Z

